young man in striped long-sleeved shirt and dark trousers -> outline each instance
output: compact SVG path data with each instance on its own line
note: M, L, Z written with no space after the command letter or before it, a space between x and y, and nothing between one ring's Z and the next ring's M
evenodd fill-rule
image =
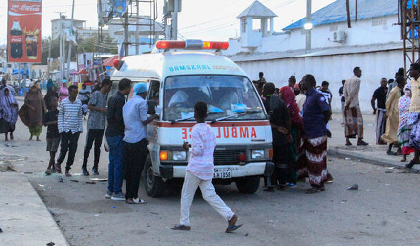
M61 135L60 155L55 168L61 173L61 164L64 161L68 151L67 165L65 166L65 175L71 176L70 169L74 162L74 156L77 150L77 141L79 135L83 132L82 127L82 102L77 99L77 85L68 87L68 97L60 103L58 114L58 132Z

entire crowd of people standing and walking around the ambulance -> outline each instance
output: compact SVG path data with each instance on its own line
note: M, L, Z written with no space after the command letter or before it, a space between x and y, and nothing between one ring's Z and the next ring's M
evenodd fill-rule
M362 70L355 67L354 76L342 80L339 96L345 145L352 145L350 139L357 137L357 145L368 145L363 140L363 117L359 105L359 90ZM396 73L395 80L382 78L375 90L371 104L376 114L376 144L388 144L388 154L407 155L415 152L407 164L411 168L420 163L420 65L410 67L412 80L406 84L403 69ZM308 178L313 194L325 190L325 184L333 181L327 169L327 139L332 137L329 127L333 94L329 83L322 81L317 86L313 75L305 75L297 83L290 76L288 85L276 88L267 82L263 72L259 80L253 81L260 94L272 128L273 163L275 171L265 177L265 190L286 190L296 186L298 180ZM109 148L108 187L106 198L126 201L128 204L146 203L138 195L140 176L147 159L147 125L158 117L147 116L146 83L136 83L132 88L129 79L118 82L118 92L107 98L113 82L105 78L93 90L82 85L70 85L63 81L57 88L52 80L47 83L47 93L42 97L36 84L30 87L19 109L14 89L6 80L0 86L0 133L13 139L18 115L29 128L30 138L40 141L42 126L47 127L47 151L50 160L45 173L64 172L71 176L78 140L83 132L83 118L87 119L87 137L84 146L82 171L85 176L99 175L100 149L105 134ZM131 90L132 97L126 102ZM375 101L377 104L375 105ZM237 215L224 204L211 184L213 178L213 151L215 136L211 127L205 124L207 105L194 102L194 117L197 124L191 131L192 142L185 142L183 148L189 152L189 164L181 195L180 224L172 229L189 230L189 208L195 190L200 187L204 199L228 221L227 232L240 227L236 225ZM106 123L106 124L105 124ZM56 160L56 153L60 153ZM88 170L90 150L94 147L91 172ZM393 152L392 148L397 147ZM62 164L66 164L62 170ZM124 167L124 168L123 168ZM126 191L122 192L123 177Z

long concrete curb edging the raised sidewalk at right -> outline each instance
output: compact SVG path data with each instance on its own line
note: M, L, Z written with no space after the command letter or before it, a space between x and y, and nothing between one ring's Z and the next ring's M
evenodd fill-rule
M345 158L345 157L349 157L352 159L356 159L356 160L360 160L363 162L367 162L367 163L371 163L371 164L375 164L375 165L380 165L380 166L389 166L389 167L395 167L398 169L404 169L405 164L402 164L399 161L391 161L385 158L381 158L379 156L370 156L367 154L360 154L357 153L355 151L345 151L345 150L340 150L340 149L328 149L327 150L328 155L331 156L336 156L336 157L341 157L341 158ZM411 171L415 172L415 173L420 173L420 165L415 165Z

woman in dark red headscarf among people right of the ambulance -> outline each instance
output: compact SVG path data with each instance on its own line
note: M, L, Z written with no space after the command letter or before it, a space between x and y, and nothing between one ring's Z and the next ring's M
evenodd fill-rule
M288 182L289 186L295 186L297 182L297 166L296 163L301 155L300 147L302 145L303 120L300 116L299 106L295 101L295 94L291 87L284 86L280 89L280 98L286 103L286 107L290 116L290 134L293 141L289 144L289 152L293 160L293 169L289 170Z

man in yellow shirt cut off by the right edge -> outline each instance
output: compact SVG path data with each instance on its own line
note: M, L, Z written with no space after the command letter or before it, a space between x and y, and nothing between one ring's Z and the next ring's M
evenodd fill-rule
M415 164L420 164L420 64L413 63L410 66L411 79L411 103L410 116L408 124L413 124L410 134L409 146L414 148L414 158L410 161L406 168L412 168Z

